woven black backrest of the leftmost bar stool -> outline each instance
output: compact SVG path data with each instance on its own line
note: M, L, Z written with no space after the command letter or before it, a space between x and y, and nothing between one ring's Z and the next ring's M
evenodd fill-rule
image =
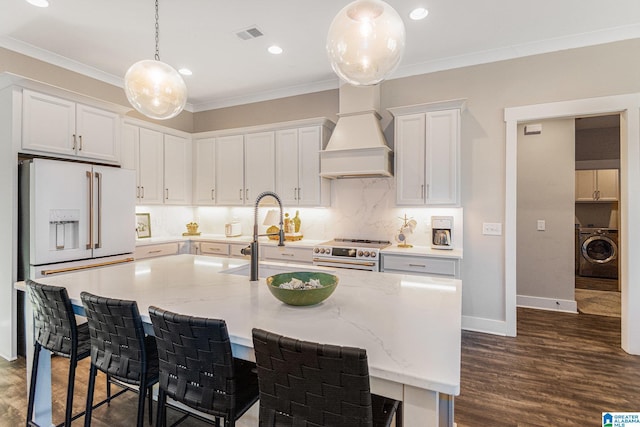
M71 357L78 346L78 327L66 288L27 280L35 340L54 354Z

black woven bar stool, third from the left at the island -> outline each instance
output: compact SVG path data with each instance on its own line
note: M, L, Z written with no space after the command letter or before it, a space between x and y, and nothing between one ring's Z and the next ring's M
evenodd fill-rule
M149 307L158 344L160 390L156 425L166 424L167 396L234 426L258 400L255 364L236 359L224 320ZM176 425L190 413L185 412ZM201 417L198 417L203 419Z

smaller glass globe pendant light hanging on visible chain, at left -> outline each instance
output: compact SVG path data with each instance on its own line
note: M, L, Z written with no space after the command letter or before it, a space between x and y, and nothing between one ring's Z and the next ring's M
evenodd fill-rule
M187 103L187 86L182 76L160 61L158 48L158 0L156 0L156 55L129 67L124 91L131 105L147 117L166 120L180 114Z

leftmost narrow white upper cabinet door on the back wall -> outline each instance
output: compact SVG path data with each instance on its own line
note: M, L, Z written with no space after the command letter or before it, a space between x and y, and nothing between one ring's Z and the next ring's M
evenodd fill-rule
M193 141L193 203L211 206L216 203L216 139Z

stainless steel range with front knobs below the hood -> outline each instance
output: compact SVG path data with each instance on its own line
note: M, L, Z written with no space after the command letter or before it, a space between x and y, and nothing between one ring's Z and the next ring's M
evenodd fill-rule
M313 248L313 265L380 271L380 249L387 240L333 239Z

